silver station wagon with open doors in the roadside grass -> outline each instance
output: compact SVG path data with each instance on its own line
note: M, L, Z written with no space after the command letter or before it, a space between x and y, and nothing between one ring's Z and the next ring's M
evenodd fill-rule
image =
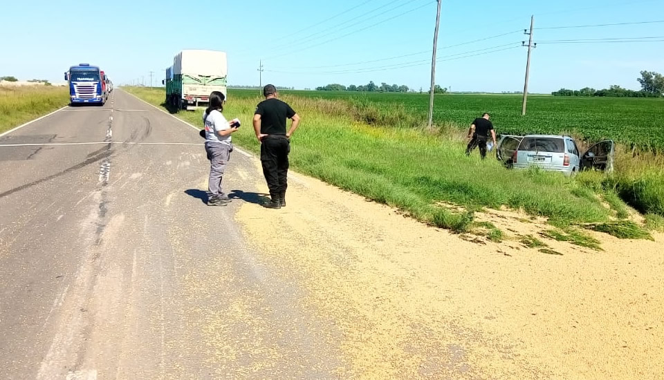
M510 152L511 155L508 155ZM565 175L573 175L585 169L611 172L614 169L614 154L615 144L612 140L598 142L580 154L574 139L566 135L509 135L501 137L496 149L497 158L508 167L540 167Z

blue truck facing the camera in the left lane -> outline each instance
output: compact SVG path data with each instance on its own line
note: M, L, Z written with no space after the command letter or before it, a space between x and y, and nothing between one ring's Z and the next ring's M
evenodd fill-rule
M64 80L69 84L69 104L106 103L104 75L98 66L78 64L71 66L64 73Z

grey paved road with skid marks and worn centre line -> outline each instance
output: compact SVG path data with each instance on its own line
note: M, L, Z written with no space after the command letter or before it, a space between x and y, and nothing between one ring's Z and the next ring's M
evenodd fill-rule
M201 142L122 91L0 137L0 379L333 377L322 322L233 222L254 159L210 208Z

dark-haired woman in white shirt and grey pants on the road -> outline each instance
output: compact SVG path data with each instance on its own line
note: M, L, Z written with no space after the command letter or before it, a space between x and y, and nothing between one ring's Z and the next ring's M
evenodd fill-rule
M219 91L210 94L210 106L203 114L205 124L205 152L210 160L210 178L208 180L208 206L225 206L230 202L228 194L221 188L223 171L230 160L230 152L233 150L230 135L237 131L238 127L229 123L223 117L223 103L225 96Z

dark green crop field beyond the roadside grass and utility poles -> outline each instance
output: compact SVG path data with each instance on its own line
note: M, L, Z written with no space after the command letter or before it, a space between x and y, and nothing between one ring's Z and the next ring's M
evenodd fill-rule
M246 97L257 91L232 91ZM284 91L284 94L374 104L389 112L402 108L425 123L429 95ZM521 115L521 95L436 95L434 123L466 128L483 112L492 114L498 133L570 133L589 142L605 138L641 148L664 149L664 99L618 97L528 97L528 114Z

